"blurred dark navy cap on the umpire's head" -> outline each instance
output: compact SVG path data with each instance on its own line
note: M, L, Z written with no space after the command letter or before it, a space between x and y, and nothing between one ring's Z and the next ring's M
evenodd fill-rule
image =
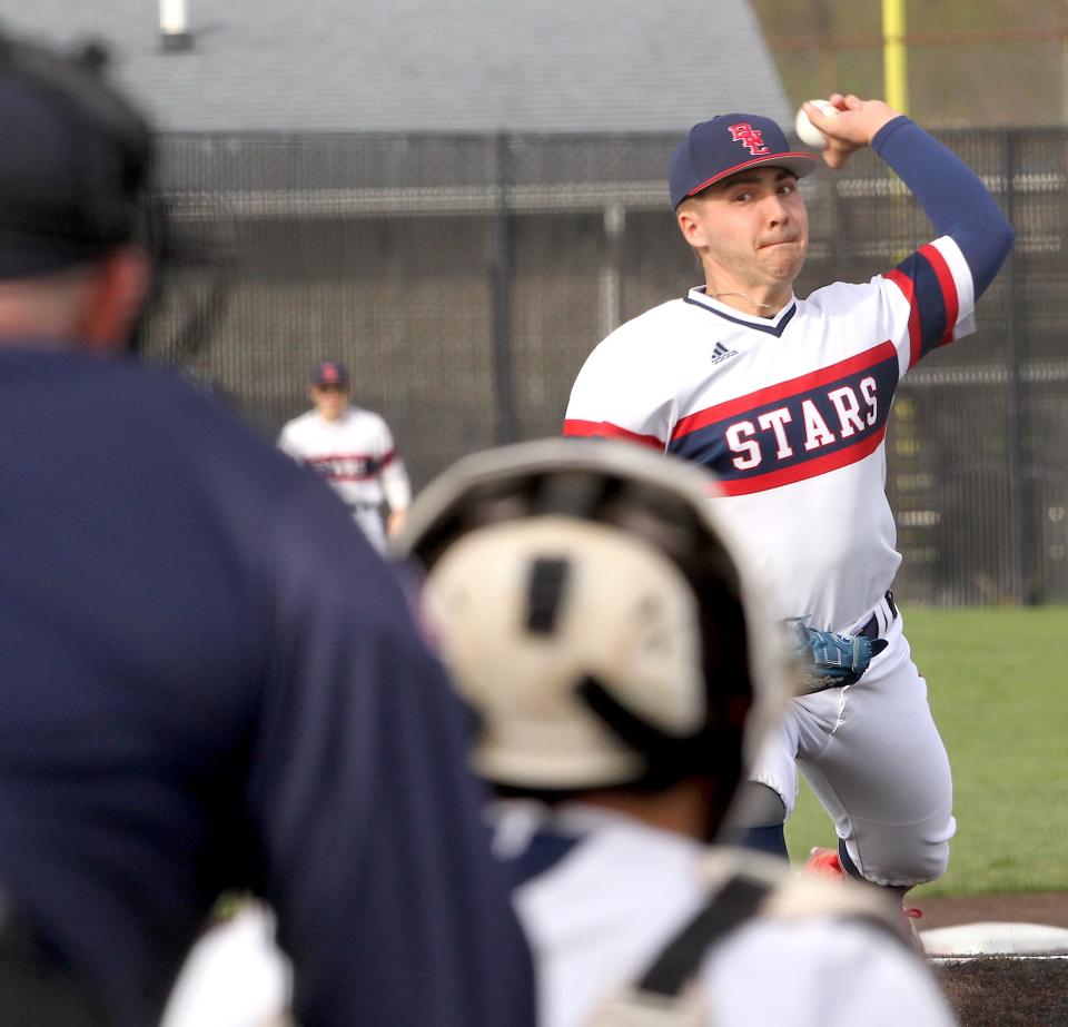
M108 85L107 55L0 32L0 279L140 241L152 137Z

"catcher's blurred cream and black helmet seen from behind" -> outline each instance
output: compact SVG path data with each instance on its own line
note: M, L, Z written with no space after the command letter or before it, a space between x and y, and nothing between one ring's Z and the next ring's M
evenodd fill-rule
M484 778L733 790L787 689L708 485L633 446L551 440L461 461L418 497L397 550L425 570Z

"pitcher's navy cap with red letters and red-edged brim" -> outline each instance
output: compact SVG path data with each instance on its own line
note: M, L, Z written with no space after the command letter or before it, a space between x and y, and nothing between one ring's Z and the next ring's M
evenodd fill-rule
M694 125L671 155L671 205L678 207L686 197L696 196L729 175L764 165L788 168L803 178L815 169L817 158L791 150L771 118L716 115Z

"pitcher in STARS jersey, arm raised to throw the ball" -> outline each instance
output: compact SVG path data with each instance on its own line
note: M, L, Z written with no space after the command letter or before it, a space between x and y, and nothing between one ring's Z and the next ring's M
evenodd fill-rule
M815 167L773 121L722 115L670 162L679 228L705 284L602 342L575 381L565 434L624 438L721 480L713 500L775 584L775 608L820 631L880 642L839 688L797 699L752 768L748 841L787 855L800 760L834 819L831 872L898 897L946 869L949 761L890 587L901 562L884 493L884 437L901 376L973 328L975 303L1012 244L976 175L879 100L807 105L840 168L874 152L911 188L938 238L859 285L793 295L808 247L798 179ZM833 683L833 682L831 682Z

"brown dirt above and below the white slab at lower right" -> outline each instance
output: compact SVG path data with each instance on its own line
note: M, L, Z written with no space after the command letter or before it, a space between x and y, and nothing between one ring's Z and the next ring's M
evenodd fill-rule
M1001 921L1068 928L1068 892L920 899L921 930ZM1068 1027L1068 959L988 956L936 965L961 1027Z

